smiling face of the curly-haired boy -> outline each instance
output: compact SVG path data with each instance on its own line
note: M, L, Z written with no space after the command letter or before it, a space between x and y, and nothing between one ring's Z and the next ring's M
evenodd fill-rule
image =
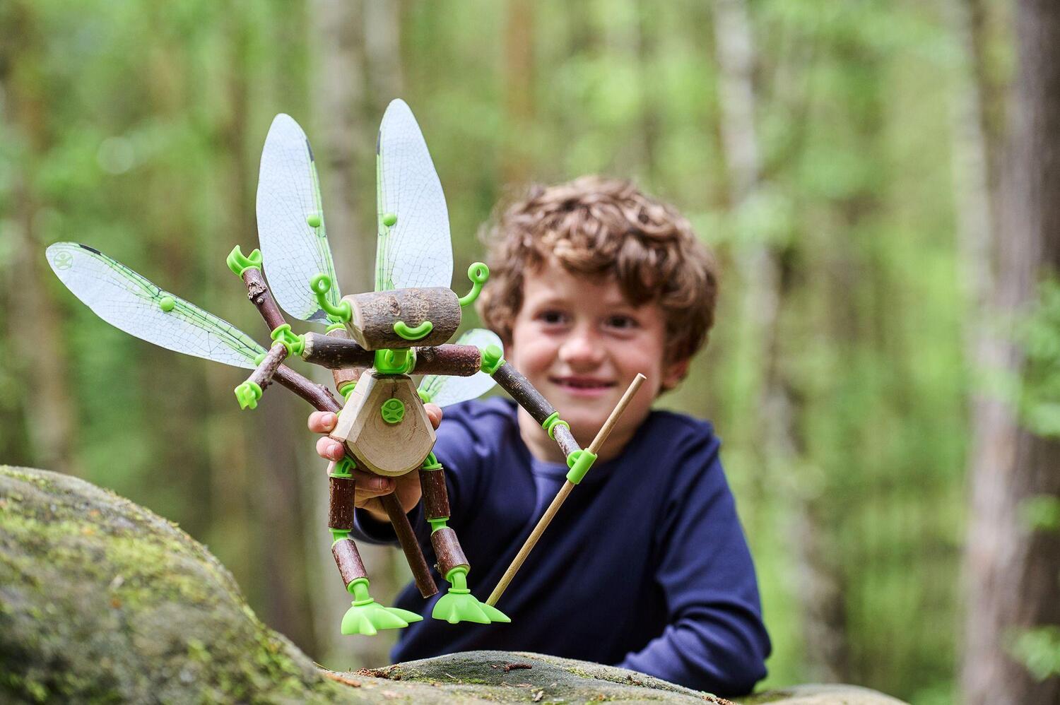
M659 390L675 385L688 367L688 360L664 363L665 334L657 304L633 306L617 282L570 275L550 262L525 275L523 307L505 357L560 411L583 447L642 372L648 378L612 431L616 443L608 442L621 447Z

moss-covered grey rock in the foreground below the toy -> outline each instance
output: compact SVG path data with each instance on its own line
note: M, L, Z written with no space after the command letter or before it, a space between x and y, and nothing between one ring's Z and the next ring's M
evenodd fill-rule
M768 702L788 702L780 695ZM173 523L67 475L0 465L0 702L12 701L725 702L526 653L324 671L265 627L228 570Z

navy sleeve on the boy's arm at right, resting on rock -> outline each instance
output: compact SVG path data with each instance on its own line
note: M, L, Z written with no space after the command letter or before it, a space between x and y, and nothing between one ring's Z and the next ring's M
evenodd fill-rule
M765 676L770 638L736 501L710 435L679 457L687 469L656 526L656 582L668 623L619 664L719 695L742 695Z

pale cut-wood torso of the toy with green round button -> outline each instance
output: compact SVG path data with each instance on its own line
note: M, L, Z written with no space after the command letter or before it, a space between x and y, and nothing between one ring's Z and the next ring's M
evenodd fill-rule
M346 443L361 470L398 477L417 470L435 446L435 428L406 374L366 370L331 437Z

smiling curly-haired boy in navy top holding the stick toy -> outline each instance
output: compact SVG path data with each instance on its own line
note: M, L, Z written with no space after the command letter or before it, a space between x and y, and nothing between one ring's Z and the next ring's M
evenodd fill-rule
M723 695L749 692L765 675L770 641L719 441L705 421L651 410L713 322L712 261L672 208L598 177L534 189L491 235L482 320L582 447L633 377L647 381L498 602L512 622L430 619L432 601L410 585L395 606L425 619L403 630L392 657L537 651ZM430 415L441 418L437 407ZM317 433L334 424L334 415L310 418ZM326 437L317 451L342 455ZM469 583L484 600L563 484L564 457L501 398L449 407L435 453ZM393 541L375 499L393 489L392 478L358 475L358 539ZM396 490L430 556L417 474Z

